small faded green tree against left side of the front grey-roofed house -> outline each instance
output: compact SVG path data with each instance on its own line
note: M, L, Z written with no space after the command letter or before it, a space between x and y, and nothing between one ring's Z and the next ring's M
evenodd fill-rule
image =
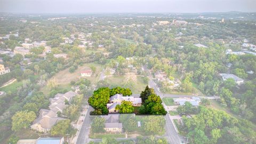
M93 133L105 132L105 118L104 117L94 117L91 124L91 129Z

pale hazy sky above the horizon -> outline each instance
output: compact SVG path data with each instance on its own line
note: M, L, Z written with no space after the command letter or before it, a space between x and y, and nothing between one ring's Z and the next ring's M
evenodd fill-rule
M0 12L255 12L256 0L0 0Z

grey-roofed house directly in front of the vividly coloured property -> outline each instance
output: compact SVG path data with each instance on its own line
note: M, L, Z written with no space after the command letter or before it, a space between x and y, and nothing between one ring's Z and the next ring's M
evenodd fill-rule
M119 123L119 114L103 116L106 119L104 130L106 132L122 132L123 124Z

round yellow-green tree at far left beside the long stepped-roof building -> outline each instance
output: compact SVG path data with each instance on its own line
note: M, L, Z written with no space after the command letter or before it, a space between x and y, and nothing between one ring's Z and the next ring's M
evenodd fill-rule
M12 130L19 131L20 129L26 129L30 123L36 118L34 111L18 111L12 116Z

